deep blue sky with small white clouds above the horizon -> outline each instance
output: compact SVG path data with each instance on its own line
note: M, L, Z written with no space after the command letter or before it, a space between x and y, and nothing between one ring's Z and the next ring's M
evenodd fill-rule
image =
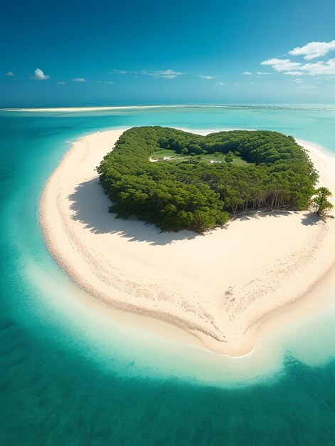
M0 38L0 107L335 103L334 0L11 0Z

